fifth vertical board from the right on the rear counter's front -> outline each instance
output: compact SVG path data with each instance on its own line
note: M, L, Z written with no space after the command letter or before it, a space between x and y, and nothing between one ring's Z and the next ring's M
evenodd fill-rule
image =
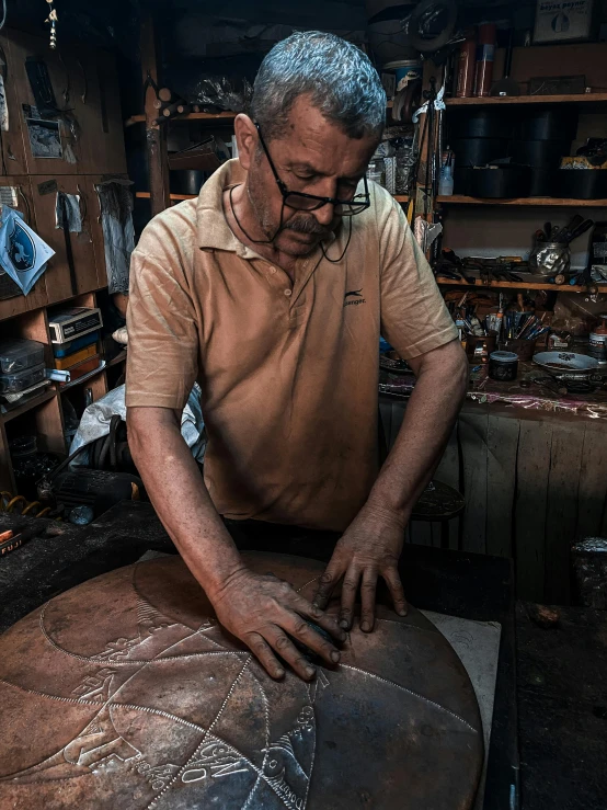
M459 417L459 436L463 458L462 549L486 551L486 413L466 413Z

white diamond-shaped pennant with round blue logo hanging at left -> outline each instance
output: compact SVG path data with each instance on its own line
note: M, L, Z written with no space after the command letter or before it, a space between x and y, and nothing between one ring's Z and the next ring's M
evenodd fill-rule
M0 264L23 295L32 289L55 251L23 221L23 215L2 206L0 215Z

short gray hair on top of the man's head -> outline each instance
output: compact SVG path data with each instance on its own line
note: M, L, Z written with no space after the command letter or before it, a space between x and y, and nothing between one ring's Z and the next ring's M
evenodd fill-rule
M253 121L264 138L284 135L295 100L305 94L351 138L381 135L386 93L368 56L352 43L307 31L272 48L255 78L251 101Z

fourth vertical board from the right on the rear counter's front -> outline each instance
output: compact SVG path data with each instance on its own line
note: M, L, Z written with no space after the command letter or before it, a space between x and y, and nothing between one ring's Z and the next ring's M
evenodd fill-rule
M520 423L491 412L486 437L486 552L512 557L516 457Z

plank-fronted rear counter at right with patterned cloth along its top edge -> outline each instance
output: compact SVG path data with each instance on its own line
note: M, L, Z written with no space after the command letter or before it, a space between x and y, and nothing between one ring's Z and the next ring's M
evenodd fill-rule
M435 478L466 499L448 524L450 548L513 558L518 598L574 604L570 548L607 535L607 388L563 396L520 386L531 375L538 367L520 363L514 383L470 387ZM413 375L380 377L388 448L413 384ZM411 524L415 544L440 538L438 523Z

